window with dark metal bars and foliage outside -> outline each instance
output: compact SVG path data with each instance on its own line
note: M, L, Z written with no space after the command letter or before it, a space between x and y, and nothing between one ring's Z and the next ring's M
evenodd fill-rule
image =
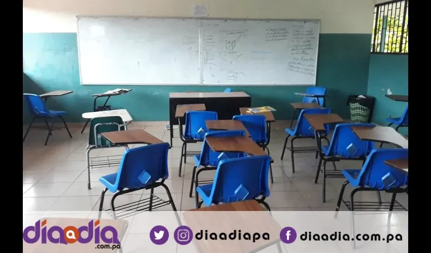
M375 5L371 53L409 53L408 0L395 0Z

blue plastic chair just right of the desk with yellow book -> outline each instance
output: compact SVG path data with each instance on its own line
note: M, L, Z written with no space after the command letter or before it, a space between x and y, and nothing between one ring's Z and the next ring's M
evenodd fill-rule
M308 152L316 152L316 147L294 147L293 141L295 139L313 139L314 129L311 127L310 123L305 119L305 114L326 114L331 113L331 108L318 108L318 109L303 109L299 114L298 121L294 129L286 128L285 132L288 133L284 141L283 151L281 152L281 160L284 157L284 151L286 150L286 145L288 144L289 137L292 136L291 139L291 147L287 148L291 151L291 160L292 160L292 172L295 173L295 152L308 153ZM330 129L327 129L325 135L329 134ZM316 156L317 158L317 156Z

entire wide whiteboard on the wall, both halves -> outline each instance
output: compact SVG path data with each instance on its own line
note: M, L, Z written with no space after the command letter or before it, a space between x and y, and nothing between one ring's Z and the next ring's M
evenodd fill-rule
M315 85L318 20L77 17L82 84Z

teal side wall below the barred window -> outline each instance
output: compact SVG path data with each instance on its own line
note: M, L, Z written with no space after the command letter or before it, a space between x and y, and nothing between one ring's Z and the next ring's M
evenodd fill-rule
M387 125L385 118L401 117L408 103L392 101L385 97L387 89L392 94L409 94L409 56L371 54L368 78L368 95L376 98L373 122ZM401 133L407 134L408 128Z

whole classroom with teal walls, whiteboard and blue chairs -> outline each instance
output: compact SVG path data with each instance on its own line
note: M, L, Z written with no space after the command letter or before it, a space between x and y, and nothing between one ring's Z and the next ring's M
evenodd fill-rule
M118 252L288 252L277 217L408 214L408 2L24 0L24 232L100 219ZM276 236L158 243L223 211Z

